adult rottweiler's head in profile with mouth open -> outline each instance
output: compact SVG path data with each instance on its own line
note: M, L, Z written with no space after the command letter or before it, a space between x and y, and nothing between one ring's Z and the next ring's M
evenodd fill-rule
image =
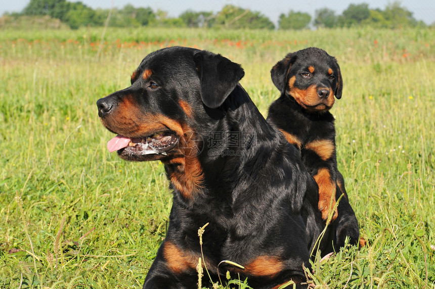
M98 100L103 125L117 134L108 149L129 161L167 161L196 155L197 135L210 125L207 108L220 107L243 77L227 58L187 47L149 54L132 85Z

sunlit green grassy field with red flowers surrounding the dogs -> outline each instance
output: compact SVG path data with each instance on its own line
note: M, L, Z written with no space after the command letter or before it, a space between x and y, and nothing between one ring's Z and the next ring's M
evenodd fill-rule
M143 28L0 30L1 289L142 286L171 192L160 163L107 151L95 103L168 45L241 63L264 115L279 94L270 68L286 53L335 56L337 161L368 246L316 263L314 282L435 287L435 30Z

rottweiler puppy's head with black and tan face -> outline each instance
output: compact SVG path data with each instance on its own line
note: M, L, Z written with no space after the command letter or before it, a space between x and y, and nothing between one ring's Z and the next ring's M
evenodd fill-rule
M324 50L310 47L289 53L271 70L281 94L290 95L303 109L325 112L341 98L343 82L336 59Z

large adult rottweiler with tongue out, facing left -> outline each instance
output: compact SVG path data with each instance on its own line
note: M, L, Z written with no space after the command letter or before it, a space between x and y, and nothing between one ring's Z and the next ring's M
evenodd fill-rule
M213 281L229 260L243 268L224 262L221 278L229 271L256 289L289 280L307 287L303 265L310 268L324 228L317 185L240 86L243 76L221 55L168 47L145 57L131 86L97 102L103 125L117 134L109 150L161 161L173 190L144 288L197 286L198 229L206 223L203 262Z

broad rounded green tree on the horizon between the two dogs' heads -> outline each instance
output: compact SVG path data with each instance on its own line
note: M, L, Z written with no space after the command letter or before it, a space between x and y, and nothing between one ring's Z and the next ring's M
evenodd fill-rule
M259 12L226 5L216 16L216 25L226 28L240 29L275 29L275 25Z

